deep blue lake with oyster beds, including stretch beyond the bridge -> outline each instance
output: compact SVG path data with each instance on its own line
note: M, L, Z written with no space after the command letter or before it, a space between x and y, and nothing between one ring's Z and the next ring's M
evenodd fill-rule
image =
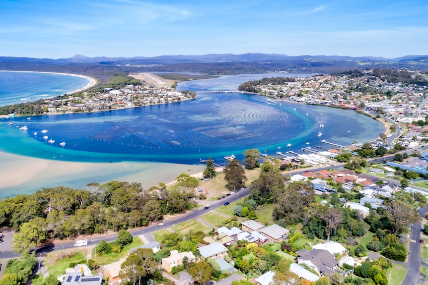
M268 155L275 155L279 150L303 153L299 150L307 146L330 149L321 139L347 146L353 141L372 140L384 131L383 124L377 120L351 110L275 103L257 95L215 92L234 91L245 81L266 76L230 75L183 82L179 90L205 93L198 93L196 99L172 104L1 119L0 150L78 162L197 164L200 159L212 157L223 165L224 156L234 154L243 159L242 152L249 148ZM23 125L28 129L19 129L18 126ZM43 129L48 132L42 133ZM45 135L47 138L43 138ZM49 143L50 139L55 142ZM66 145L61 146L61 142Z

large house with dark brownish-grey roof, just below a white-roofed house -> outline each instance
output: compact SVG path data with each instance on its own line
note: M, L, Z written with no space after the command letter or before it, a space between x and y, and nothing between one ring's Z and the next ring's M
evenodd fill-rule
M319 275L332 276L339 265L339 262L334 259L334 255L328 250L312 249L309 251L301 249L296 254L298 255L298 264L306 264Z

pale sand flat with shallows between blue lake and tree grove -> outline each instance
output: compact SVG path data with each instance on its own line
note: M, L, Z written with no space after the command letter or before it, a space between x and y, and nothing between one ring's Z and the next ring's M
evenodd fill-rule
M0 152L0 199L31 194L56 186L79 189L88 183L127 181L144 189L160 182L168 184L181 173L199 175L205 165L150 162L80 163L44 160Z

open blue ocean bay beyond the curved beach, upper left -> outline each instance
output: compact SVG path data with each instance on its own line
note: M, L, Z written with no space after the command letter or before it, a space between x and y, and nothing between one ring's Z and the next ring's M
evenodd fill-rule
M68 94L89 83L88 78L74 75L0 71L0 106Z

